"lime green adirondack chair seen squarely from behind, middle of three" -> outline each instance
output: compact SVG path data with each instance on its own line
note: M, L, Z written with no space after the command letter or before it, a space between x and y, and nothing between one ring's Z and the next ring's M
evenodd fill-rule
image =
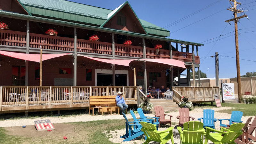
M202 122L186 122L183 124L183 128L182 131L180 126L177 127L181 144L203 144L205 130Z

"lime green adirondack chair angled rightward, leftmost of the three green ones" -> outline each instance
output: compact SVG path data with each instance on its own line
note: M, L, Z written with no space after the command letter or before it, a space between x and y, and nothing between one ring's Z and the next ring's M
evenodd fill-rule
M141 131L143 131L144 134L147 136L144 144L148 144L150 141L156 141L161 142L161 144L165 144L170 139L172 140L172 144L174 144L172 133L173 127L169 127L164 131L158 132L156 130L156 124L150 124L146 122L140 122L140 124L142 125Z

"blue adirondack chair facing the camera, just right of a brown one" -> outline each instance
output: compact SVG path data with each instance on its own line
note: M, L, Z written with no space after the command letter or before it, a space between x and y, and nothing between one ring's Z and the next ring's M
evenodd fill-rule
M204 109L204 117L200 117L197 120L201 122L201 119L203 119L204 127L208 126L210 128L215 129L214 123L217 121L217 119L214 118L214 110Z

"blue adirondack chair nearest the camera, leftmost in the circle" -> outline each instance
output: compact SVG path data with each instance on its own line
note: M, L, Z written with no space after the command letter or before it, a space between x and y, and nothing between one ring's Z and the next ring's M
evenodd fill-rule
M142 134L144 134L144 132L141 131L141 124L140 121L132 121L129 122L127 117L125 116L124 113L122 113L125 119L125 135L121 136L120 138L124 138L123 141L130 141L133 140L139 136L141 136ZM130 124L131 123L131 124ZM133 129L132 129L133 127Z

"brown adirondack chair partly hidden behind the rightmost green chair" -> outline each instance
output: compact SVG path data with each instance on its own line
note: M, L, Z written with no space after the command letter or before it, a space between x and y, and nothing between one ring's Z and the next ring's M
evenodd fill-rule
M256 118L254 118L254 119L256 119ZM240 135L236 140L234 140L237 144L252 144L252 142L250 142L248 140L248 125L251 122L251 120L252 120L252 117L249 117L247 119L247 121L245 122L244 127L242 128L243 134ZM230 125L227 124L227 127L224 127L224 126L220 126L220 127L229 128L229 126ZM244 138L244 136L245 136L245 138Z

